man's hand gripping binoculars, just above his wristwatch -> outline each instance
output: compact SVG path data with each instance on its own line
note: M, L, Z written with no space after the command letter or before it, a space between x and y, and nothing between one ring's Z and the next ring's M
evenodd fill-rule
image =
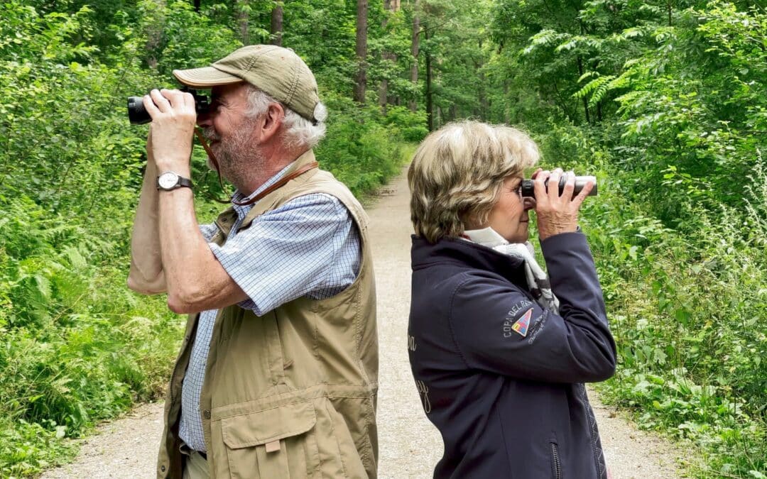
M173 171L189 177L197 120L194 97L179 90L152 90L143 97L143 104L152 117L147 153L158 172Z

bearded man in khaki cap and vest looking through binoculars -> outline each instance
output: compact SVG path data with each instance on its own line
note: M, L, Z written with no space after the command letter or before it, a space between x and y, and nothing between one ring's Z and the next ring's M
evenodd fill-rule
M240 48L153 90L128 286L189 313L157 477L375 477L377 329L367 215L317 168L314 75L293 51ZM195 122L232 207L198 225Z

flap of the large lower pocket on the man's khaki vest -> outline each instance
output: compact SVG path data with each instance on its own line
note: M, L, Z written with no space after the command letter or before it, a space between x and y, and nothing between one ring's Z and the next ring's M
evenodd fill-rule
M311 402L282 405L221 420L224 443L232 449L252 448L290 438L314 428L317 415Z

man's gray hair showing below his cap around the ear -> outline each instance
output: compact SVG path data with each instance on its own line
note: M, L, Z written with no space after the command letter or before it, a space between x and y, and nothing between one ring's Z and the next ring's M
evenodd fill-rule
M245 110L247 116L255 118L266 113L269 103L280 102L265 94L262 90L258 90L258 88L250 84L248 85L248 109ZM320 143L322 137L325 136L324 121L318 121L317 124L313 124L285 105L282 105L282 109L285 110L285 119L282 120L285 130L283 130L282 139L285 141L286 146L290 148L314 148L314 146ZM317 107L314 108L314 116L318 119L324 119L328 116L328 110L324 104L318 103Z

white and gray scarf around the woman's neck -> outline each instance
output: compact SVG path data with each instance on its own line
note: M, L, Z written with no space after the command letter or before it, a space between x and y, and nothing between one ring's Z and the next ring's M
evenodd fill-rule
M551 311L559 313L559 300L551 291L551 283L542 267L535 261L535 254L530 241L525 243L509 243L492 228L474 229L463 231L468 241L476 244L482 244L487 248L492 248L499 253L520 258L525 263L525 277L527 277L528 290L535 298L535 301Z

